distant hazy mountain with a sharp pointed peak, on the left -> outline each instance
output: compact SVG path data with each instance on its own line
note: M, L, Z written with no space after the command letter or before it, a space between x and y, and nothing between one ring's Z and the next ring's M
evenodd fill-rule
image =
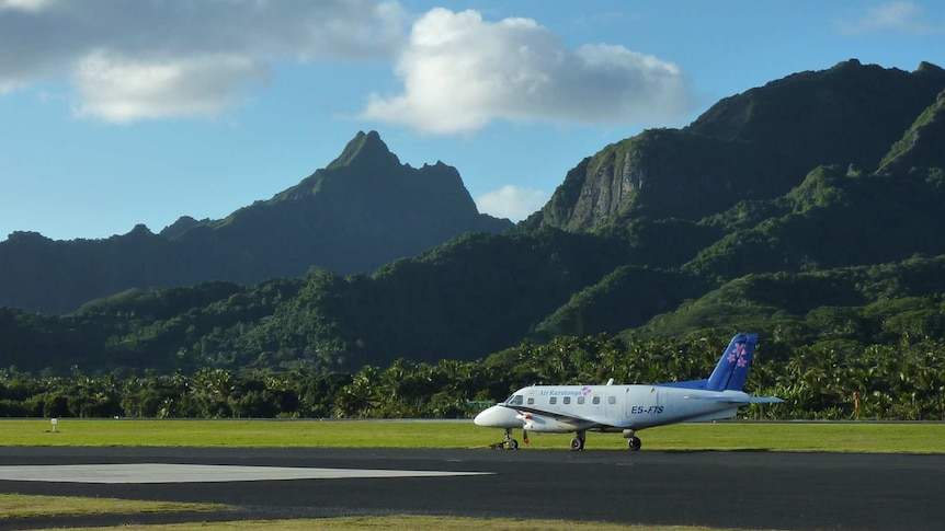
M181 217L103 240L14 233L0 242L0 305L62 313L129 288L252 285L311 267L369 273L467 231L513 227L479 213L459 172L401 164L376 131L299 184L218 220Z

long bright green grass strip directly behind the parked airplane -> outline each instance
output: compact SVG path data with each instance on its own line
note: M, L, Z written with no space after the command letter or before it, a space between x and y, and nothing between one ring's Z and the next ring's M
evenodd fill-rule
M265 448L488 448L501 429L422 420L0 420L0 446ZM682 424L637 434L646 450L945 453L938 423ZM515 437L522 439L521 430ZM532 434L523 449L566 449L572 435ZM588 435L587 450L623 450L618 434Z

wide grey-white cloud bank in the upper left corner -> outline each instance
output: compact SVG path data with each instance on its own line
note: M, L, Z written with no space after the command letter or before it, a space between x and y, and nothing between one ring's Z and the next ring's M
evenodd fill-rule
M0 0L0 93L65 80L84 117L214 115L276 60L390 59L405 20L376 0Z

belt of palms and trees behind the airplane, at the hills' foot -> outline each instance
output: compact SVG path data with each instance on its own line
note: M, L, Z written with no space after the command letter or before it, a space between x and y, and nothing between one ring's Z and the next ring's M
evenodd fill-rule
M945 342L899 345L831 339L794 347L788 331L763 337L747 391L749 418L945 419ZM0 416L133 418L465 418L533 383L654 383L706 378L728 337L561 336L477 361L398 359L325 372L201 368L192 373L113 371L89 377L0 370Z

